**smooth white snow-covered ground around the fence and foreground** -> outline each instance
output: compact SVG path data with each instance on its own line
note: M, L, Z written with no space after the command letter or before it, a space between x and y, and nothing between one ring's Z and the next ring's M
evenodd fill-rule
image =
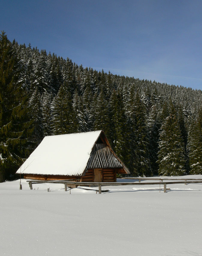
M101 195L22 186L0 183L0 256L202 255L202 183L167 185L167 193L151 190L159 185L109 186Z

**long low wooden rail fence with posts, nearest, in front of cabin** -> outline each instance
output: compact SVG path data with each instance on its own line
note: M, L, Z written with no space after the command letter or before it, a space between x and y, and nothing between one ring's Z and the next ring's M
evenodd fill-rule
M72 182L72 181L36 181L36 180L27 180L29 182L29 187L32 189L32 184L38 184L38 183L56 183L56 184L64 184L65 185L65 191L67 191L68 185L74 185L74 186L98 186L99 194L101 194L101 186L126 186L126 185L133 185L133 186L140 186L140 185L161 185L164 184L164 193L166 192L166 185L167 184L184 184L184 181L171 181L171 182ZM188 183L202 183L202 180L190 180Z

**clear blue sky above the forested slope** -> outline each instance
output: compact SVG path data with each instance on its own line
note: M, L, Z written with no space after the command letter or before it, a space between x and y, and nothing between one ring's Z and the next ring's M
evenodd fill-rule
M202 89L202 0L1 0L0 30L78 65Z

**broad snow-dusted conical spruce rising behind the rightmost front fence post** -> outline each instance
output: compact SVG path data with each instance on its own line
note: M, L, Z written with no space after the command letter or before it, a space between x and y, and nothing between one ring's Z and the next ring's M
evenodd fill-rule
M180 176L185 172L185 150L176 110L170 103L170 115L161 126L158 164L159 175Z

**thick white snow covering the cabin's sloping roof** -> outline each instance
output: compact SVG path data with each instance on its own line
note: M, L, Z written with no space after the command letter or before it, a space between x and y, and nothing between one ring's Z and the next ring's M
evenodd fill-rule
M81 175L101 131L47 136L16 173Z

